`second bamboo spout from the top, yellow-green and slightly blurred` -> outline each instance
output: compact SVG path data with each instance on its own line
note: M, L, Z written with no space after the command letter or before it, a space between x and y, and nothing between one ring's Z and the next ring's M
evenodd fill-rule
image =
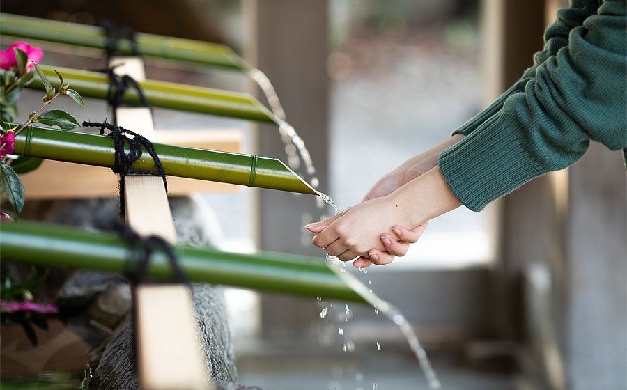
M57 78L53 67L40 65L40 68L52 80L53 86L56 85L54 80ZM75 89L84 98L107 98L109 76L104 73L56 66L54 69L63 75L64 84L70 84L70 88ZM154 80L140 81L139 85L148 102L155 107L275 123L274 115L248 93ZM45 89L39 77L35 77L28 88L41 91ZM137 91L129 89L123 101L139 102Z

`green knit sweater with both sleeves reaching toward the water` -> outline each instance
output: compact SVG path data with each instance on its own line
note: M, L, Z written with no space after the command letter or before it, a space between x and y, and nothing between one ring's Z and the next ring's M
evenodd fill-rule
M545 32L534 66L440 153L451 191L470 210L574 164L589 141L627 147L627 3L571 0Z

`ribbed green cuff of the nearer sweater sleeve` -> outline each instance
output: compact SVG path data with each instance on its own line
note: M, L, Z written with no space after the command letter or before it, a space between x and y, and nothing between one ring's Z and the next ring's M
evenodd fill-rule
M473 211L545 173L500 113L443 150L438 165L451 191Z

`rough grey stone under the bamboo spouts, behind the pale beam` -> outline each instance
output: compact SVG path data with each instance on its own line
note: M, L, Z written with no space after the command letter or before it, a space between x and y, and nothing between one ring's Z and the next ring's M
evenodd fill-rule
M178 242L211 246L210 224L202 205L192 198L171 198L170 206ZM111 230L118 224L118 201L114 198L81 201L40 201L29 205L38 219L81 226L86 229ZM208 284L192 283L197 336L206 363L206 377L217 389L258 389L237 383L235 354L231 331L226 320L222 290ZM108 334L90 353L92 389L137 389L134 322L127 279L116 274L78 270L61 286L59 304L64 311L80 311L69 323L84 338L95 340L92 333ZM85 310L86 308L86 310ZM94 325L98 325L93 329ZM91 327L89 330L88 328Z

